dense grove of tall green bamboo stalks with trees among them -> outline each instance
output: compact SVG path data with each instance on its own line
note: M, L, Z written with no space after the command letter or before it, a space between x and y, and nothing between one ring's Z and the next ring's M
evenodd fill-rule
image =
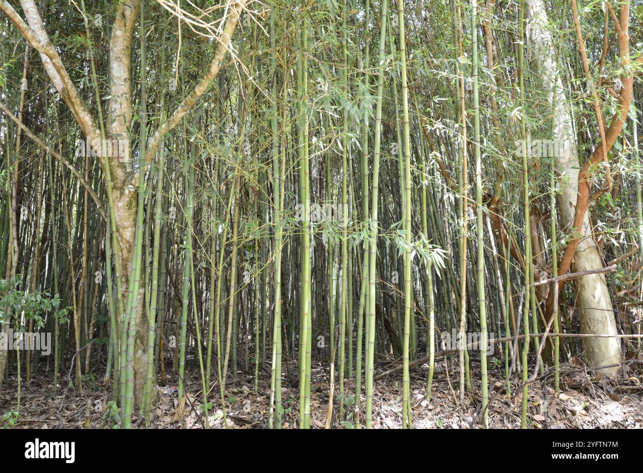
M176 384L208 428L251 376L305 429L321 379L368 429L396 382L412 428L443 364L529 427L537 378L641 355L638 2L0 5L0 322L53 337L0 352L10 410Z

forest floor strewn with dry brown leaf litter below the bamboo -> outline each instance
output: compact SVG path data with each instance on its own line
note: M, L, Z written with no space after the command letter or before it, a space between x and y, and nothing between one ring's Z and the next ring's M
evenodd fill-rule
M619 375L593 375L579 364L561 365L559 393L554 393L553 374L548 374L547 384L544 376L530 385L528 404L528 427L536 429L632 429L643 428L643 369L640 364L624 366ZM456 363L457 365L457 360ZM376 373L395 364L376 367ZM250 367L253 373L253 366ZM298 385L294 381L296 371L291 367L293 377L284 376L282 384L282 403L284 405L283 427L298 425ZM426 373L428 366L416 366L411 370L411 402L413 427L416 429L471 429L480 427L480 385L479 367L472 362L471 375L474 379L473 393L466 396L464 409L457 406L458 378L453 367L449 366L450 384L445 375L444 360L436 360L431 401L426 400ZM498 369L489 375L489 425L492 428L517 429L520 427L522 393L514 395L517 384L512 384L512 395L500 391L504 383L504 371ZM517 375L518 376L518 375ZM516 376L516 380L518 377ZM50 373L36 375L30 387L23 380L20 417L15 427L29 429L107 428L104 420L107 402L111 400L111 386L104 386L93 376L84 380L84 394L68 387L66 373L61 373L59 391L55 398L53 376ZM152 410L150 428L159 429L201 429L204 427L201 411L201 375L198 365L190 365L186 373L186 406L183 416L177 415L177 375L168 373L165 386L159 385L155 408ZM15 410L16 377L10 375L10 385L0 391L0 424L6 413ZM311 385L311 427L325 427L328 416L330 380L327 366L313 364ZM226 391L226 411L228 428L257 429L266 428L269 417L270 377L267 371L260 372L258 393L254 393L254 375L239 371L235 379L230 379ZM396 429L401 427L401 373L394 373L374 383L373 427L376 429ZM344 396L346 411L352 411L349 402L354 395L354 382L345 384L348 395ZM338 422L341 397L337 376L334 382L334 410L332 427L352 428L352 422ZM218 386L210 392L210 402L214 408L209 413L210 427L224 428ZM362 390L362 408L365 396ZM197 412L199 413L197 415ZM134 427L144 428L141 418L136 415L132 420ZM1 427L1 425L0 425Z

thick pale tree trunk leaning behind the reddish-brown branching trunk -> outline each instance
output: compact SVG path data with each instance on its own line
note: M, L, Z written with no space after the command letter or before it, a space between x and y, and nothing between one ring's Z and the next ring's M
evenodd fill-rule
M527 0L529 10L528 41L534 51L534 62L542 80L546 102L554 107L554 149L560 192L557 197L558 212L563 231L573 228L575 207L581 169L574 124L565 89L557 72L556 52L547 26L547 12L542 0ZM601 254L592 237L588 212L584 212L581 237L574 253L572 271L593 270L603 267ZM575 306L579 312L582 333L616 335L617 328L611 305L610 293L603 274L583 276L576 281ZM585 338L585 361L590 367L616 364L620 361L620 344L617 338ZM608 368L603 371L615 371Z

